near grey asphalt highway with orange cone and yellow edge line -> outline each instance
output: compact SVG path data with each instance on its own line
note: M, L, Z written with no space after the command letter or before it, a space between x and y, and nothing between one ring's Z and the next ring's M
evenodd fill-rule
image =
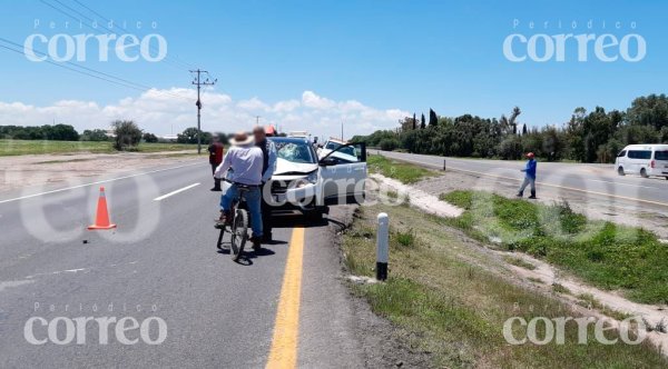
M117 230L86 230L100 186ZM0 368L362 367L332 242L351 208L277 219L235 263L210 186L197 161L1 193Z

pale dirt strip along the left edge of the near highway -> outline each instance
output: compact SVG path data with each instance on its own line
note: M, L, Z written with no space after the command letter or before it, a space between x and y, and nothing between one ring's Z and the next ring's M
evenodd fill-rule
M75 178L98 177L128 172L137 169L156 168L206 161L195 151L124 152L124 153L73 153L29 154L0 159L0 192L60 182Z

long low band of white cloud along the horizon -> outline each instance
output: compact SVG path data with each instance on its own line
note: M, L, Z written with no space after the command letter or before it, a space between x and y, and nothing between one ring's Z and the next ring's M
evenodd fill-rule
M58 123L85 129L108 128L117 119L132 119L141 129L156 134L175 133L197 124L197 92L191 89L150 89L138 97L100 106L95 101L60 100L46 107L0 101L0 124L41 126ZM283 131L308 130L316 136L338 136L344 122L345 136L367 134L376 129L393 129L409 116L401 109L376 109L355 100L334 101L313 91L302 99L268 103L259 98L235 101L230 96L207 91L202 97L202 124L207 131L233 132L250 129L255 116L261 123L279 126Z

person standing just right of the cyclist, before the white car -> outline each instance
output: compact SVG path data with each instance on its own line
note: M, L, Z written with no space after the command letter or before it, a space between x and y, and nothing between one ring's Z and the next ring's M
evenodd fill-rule
M261 126L256 126L253 129L253 136L255 137L255 146L262 150L262 227L263 227L263 242L272 241L272 207L269 206L269 198L272 196L272 188L269 179L276 170L276 146L274 142L267 140L267 131L273 132L273 127L267 130Z

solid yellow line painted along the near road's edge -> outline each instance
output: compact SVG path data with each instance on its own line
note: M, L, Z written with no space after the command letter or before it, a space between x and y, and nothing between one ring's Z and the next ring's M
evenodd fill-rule
M295 368L297 366L303 257L304 228L295 228L289 241L281 299L274 323L274 338L266 368Z

